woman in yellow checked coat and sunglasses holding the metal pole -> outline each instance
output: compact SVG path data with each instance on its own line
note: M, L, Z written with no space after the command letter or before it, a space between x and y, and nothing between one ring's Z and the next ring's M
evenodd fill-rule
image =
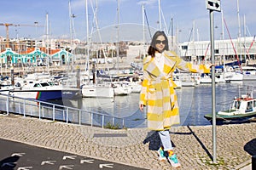
M148 48L148 56L143 59L143 87L140 94L140 110L148 105L148 128L160 135L158 150L160 161L170 161L172 167L181 167L173 153L169 129L179 123L177 95L172 81L176 68L189 72L210 72L205 65L194 66L169 51L164 31L156 31Z

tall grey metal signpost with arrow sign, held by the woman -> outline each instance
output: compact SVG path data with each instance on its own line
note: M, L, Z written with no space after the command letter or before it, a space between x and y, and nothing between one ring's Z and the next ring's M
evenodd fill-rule
M220 0L207 0L207 9L210 11L210 33L211 33L211 57L212 64L215 64L214 57L214 21L213 21L213 11L220 12ZM215 65L212 65L212 161L213 163L217 163L216 161L216 102L215 102Z

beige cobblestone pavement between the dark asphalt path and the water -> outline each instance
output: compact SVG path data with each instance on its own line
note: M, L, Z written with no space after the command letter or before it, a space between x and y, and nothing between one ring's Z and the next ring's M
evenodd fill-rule
M0 116L0 138L67 151L148 169L172 169L158 161L160 140L147 128L122 130L79 126L23 116ZM239 169L256 155L256 123L217 127L217 163L213 164L212 126L173 127L172 144L181 169Z

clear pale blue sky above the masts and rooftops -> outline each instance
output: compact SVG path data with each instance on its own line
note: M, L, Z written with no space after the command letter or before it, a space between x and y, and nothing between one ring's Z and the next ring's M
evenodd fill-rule
M161 29L170 36L176 36L178 42L210 40L210 15L205 0L160 0L160 5L159 0L119 0L119 3L118 0L88 0L87 2L88 15L85 0L70 0L70 6L68 0L1 0L0 23L20 25L9 26L9 38L39 39L48 34L50 38L69 39L73 35L73 38L82 41L87 38L102 42L143 41L143 39L150 41L154 31ZM144 13L142 4L144 4ZM239 4L239 13L237 4ZM221 10L226 23L225 39L237 38L239 32L241 37L256 35L254 4L255 0L221 1ZM222 13L213 12L215 39L222 39ZM70 17L70 14L75 17ZM88 24L86 16L88 16ZM0 26L0 36L6 37L5 26Z

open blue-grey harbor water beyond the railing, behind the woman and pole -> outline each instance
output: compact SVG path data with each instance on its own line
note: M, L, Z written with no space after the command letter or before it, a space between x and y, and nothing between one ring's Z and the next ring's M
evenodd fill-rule
M226 82L216 84L215 110L228 109L234 97L253 92L256 82ZM195 87L176 89L180 109L179 126L211 125L204 115L212 113L212 85L201 84ZM256 95L256 94L255 94ZM86 111L96 111L124 118L125 127L147 127L146 114L138 109L139 94L115 96L114 99L82 98L63 99L63 105Z

